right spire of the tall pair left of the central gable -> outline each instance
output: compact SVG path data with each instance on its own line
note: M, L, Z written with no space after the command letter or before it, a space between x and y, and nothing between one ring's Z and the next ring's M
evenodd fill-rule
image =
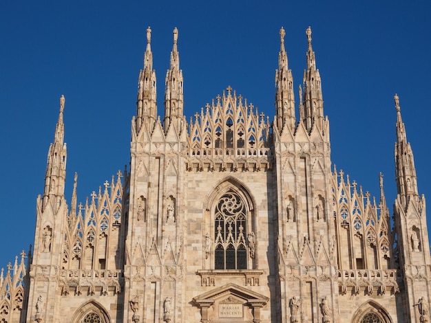
M166 72L165 78L165 120L163 126L165 131L171 124L180 131L180 122L183 119L183 91L182 71L180 70L180 55L178 53L178 29L174 28L174 46L171 52L171 67Z

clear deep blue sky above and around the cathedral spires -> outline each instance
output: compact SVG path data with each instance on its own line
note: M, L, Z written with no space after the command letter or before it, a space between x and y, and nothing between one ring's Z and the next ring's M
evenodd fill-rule
M430 15L425 0L0 1L0 267L33 243L61 94L67 202L74 172L85 202L129 164L148 26L159 115L178 27L187 116L231 85L272 119L280 27L297 89L311 25L337 169L377 197L383 172L392 205L398 93L419 190L431 197Z

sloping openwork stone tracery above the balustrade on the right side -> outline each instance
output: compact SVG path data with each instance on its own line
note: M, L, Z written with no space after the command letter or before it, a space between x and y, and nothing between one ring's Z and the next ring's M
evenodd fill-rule
M392 237L383 194L377 205L368 192L364 194L360 186L357 189L356 181L350 182L348 176L336 170L333 193L340 269L390 269ZM345 245L352 247L344 249Z

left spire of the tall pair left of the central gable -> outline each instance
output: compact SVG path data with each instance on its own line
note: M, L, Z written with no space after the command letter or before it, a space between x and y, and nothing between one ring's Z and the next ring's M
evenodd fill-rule
M151 52L151 29L147 28L147 48L144 54L144 69L140 70L138 79L138 102L136 103L136 129L139 131L143 122L152 126L157 118L156 71L153 69Z

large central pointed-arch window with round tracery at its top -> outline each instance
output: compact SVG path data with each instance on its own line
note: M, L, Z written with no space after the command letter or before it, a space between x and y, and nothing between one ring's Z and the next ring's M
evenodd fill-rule
M215 206L215 269L247 269L247 216L241 197L229 190Z

